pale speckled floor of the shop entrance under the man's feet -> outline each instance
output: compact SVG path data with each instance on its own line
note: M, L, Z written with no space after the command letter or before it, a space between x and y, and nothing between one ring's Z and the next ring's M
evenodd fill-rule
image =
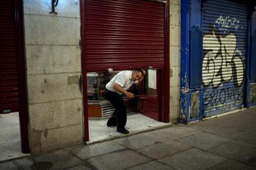
M107 120L108 119L89 120L90 141L88 144L124 136L124 134L117 132L116 127L107 127ZM171 123L158 122L142 115L141 113L136 113L127 115L127 123L125 128L129 130L129 135L131 135L144 130L151 130L169 125L171 125Z

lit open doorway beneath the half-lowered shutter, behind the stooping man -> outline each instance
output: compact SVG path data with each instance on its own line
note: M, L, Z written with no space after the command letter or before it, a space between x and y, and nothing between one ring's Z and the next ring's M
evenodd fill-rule
M88 143L110 140L124 134L116 132L116 127L107 127L107 120L115 108L104 98L105 86L115 74L120 71L87 73L88 99ZM146 76L139 84L133 84L128 91L134 94L130 99L122 95L127 110L125 128L132 133L138 133L154 128L165 127L161 111L161 72L162 69L146 69Z

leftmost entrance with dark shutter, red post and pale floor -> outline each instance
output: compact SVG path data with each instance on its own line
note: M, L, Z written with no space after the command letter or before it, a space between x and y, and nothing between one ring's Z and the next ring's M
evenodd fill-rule
M7 154L18 152L19 156L29 152L22 5L21 0L0 2L0 135L4 139L0 147ZM10 125L13 127L8 133ZM15 140L17 145L8 147L9 140ZM6 158L13 157L16 156Z

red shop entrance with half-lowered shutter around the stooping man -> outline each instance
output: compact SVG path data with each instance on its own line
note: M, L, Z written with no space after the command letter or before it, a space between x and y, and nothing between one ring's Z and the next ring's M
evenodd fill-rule
M111 74L119 71L145 69L146 75L151 75L143 85L133 87L139 94L134 101L125 99L127 111L169 122L168 32L168 4L164 1L81 1L86 141L89 112L102 112L102 117L107 117L113 111L110 103L95 100L102 97L101 81L109 81ZM97 103L102 106L95 106Z

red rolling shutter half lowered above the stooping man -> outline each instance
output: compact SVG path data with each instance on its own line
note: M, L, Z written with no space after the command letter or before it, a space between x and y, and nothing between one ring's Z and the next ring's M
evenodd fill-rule
M164 3L86 0L84 14L88 72L164 67Z

